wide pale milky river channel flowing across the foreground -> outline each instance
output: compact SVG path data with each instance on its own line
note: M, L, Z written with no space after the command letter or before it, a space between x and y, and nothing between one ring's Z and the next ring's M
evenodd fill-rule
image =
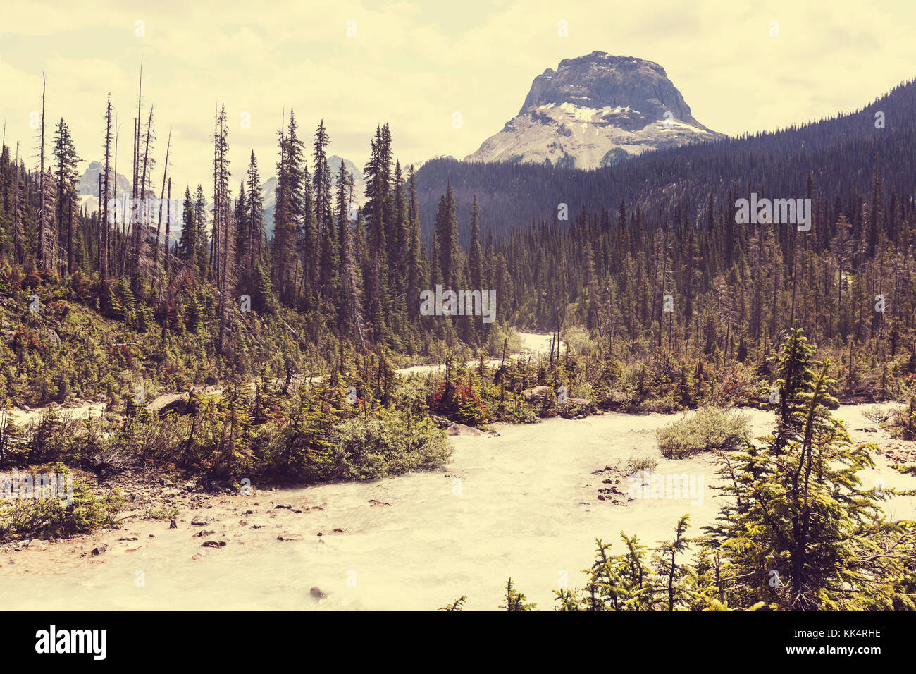
M871 425L864 411L844 406L835 414L855 429ZM747 414L755 435L769 433L771 414ZM451 438L453 458L439 470L214 497L209 509L182 512L178 529L158 521L128 521L123 529L89 541L0 558L0 605L431 610L467 595L465 608L488 610L496 609L511 576L529 601L550 609L552 590L564 574L570 585L582 584L580 569L591 564L595 537L614 541L620 551L621 530L652 546L671 537L681 514L691 514L692 534L714 519L720 499L714 498L712 466L705 459L660 457L655 433L673 418L604 414L496 425L498 437ZM853 432L857 441L876 440L877 435L887 440L883 432ZM659 459L655 472L703 475L703 496L697 500L702 503L689 498L619 505L598 500L610 473L593 471L622 465L634 455ZM880 477L887 488L916 488L916 480L890 470L883 457L876 462L876 470L862 473L868 487ZM627 492L626 477L619 487ZM302 512L277 509L278 503ZM912 497L897 497L884 507L896 517L916 517ZM245 514L248 510L253 514ZM193 526L195 514L213 521ZM202 528L213 534L192 537ZM278 540L285 534L302 537ZM117 541L134 536L136 541ZM202 540L226 545L201 547ZM81 557L102 541L110 544L104 555ZM315 599L312 587L326 597Z

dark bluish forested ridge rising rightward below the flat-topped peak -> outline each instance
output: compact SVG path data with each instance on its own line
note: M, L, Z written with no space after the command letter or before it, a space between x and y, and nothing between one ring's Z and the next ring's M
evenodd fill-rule
M871 195L876 164L883 171L886 198L896 194L906 199L913 193L914 109L916 83L911 81L855 113L775 133L660 149L591 171L431 160L417 171L421 228L424 236L431 231L435 204L447 184L455 194L463 243L470 238L474 195L484 214L482 227L492 229L496 238L516 227L550 222L559 204L567 204L572 219L583 205L600 213L603 208L615 211L623 202L630 209L638 205L650 221L671 219L680 204L683 217L698 225L708 217L710 194L718 215L724 204L751 192L811 196L817 205L815 222L834 223L843 210L856 224Z

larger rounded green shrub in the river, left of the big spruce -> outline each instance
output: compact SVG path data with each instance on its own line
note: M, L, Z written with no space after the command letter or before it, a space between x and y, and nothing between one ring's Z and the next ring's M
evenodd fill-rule
M702 451L728 451L747 436L747 416L716 407L703 407L659 431L661 454L682 459Z

